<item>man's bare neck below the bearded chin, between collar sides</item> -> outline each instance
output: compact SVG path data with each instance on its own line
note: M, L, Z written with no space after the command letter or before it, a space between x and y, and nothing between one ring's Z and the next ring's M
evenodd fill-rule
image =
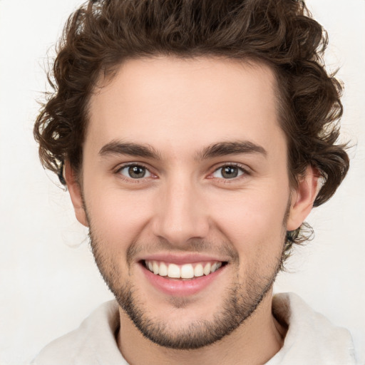
M168 349L146 339L120 309L118 346L130 365L264 364L284 344L285 329L272 316L272 292L240 327L210 346Z

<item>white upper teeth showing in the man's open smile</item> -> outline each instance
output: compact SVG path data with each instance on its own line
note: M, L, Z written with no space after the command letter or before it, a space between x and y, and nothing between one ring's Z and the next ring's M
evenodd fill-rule
M215 272L222 266L222 262L204 262L197 264L168 264L152 260L145 260L145 266L150 272L161 277L171 277L174 279L191 279L192 277L202 277L211 272Z

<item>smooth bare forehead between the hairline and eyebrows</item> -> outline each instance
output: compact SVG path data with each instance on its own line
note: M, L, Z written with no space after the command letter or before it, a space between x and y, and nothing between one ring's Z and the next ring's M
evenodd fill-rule
M274 138L283 138L275 91L272 70L259 63L126 61L91 96L86 145L118 139L173 151L245 139L275 148Z

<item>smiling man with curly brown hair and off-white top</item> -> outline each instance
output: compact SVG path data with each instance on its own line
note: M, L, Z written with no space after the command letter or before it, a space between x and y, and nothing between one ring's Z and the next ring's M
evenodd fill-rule
M272 297L349 168L326 43L292 0L71 16L34 133L116 300L34 364L354 364L346 330Z

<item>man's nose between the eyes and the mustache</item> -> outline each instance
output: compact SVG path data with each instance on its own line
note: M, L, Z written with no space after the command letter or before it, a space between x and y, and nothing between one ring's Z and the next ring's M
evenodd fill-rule
M207 206L202 187L196 185L190 180L176 179L165 183L158 194L153 234L175 247L183 247L191 239L207 237Z

